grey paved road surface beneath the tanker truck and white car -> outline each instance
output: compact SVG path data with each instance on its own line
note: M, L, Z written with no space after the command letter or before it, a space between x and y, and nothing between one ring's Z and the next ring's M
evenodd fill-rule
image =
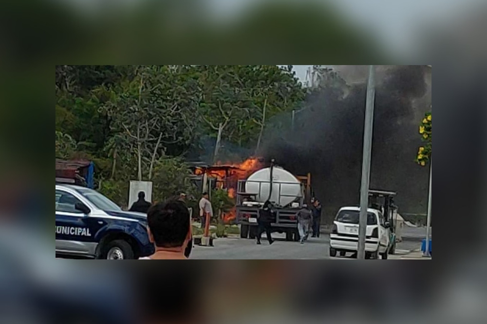
M191 259L330 259L328 235L322 235L319 239L309 239L305 244L286 242L283 235L276 234L275 237L278 239L270 246L265 240L265 235L262 236L262 245L257 245L251 239L217 239L215 247L195 247ZM397 249L398 253L406 253L419 247L417 242L405 241L399 243Z

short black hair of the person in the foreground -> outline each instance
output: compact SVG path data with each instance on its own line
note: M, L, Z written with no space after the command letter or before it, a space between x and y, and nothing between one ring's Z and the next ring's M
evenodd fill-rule
M189 210L184 203L169 200L152 206L147 222L157 247L180 247L189 233Z

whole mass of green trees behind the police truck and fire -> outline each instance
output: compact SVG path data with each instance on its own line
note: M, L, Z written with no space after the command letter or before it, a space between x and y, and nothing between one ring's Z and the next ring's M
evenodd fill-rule
M156 196L188 190L175 173L187 175L185 157L202 137L212 139L214 161L223 142L258 149L267 121L300 105L306 91L292 70L56 66L56 157L93 160L100 190L119 203L133 179L157 180Z

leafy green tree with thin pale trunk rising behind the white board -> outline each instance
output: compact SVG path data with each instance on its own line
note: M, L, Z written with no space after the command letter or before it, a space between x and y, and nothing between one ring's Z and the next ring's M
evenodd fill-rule
M158 158L169 149L183 153L196 136L192 116L199 104L199 87L188 69L142 66L133 79L98 89L111 97L103 106L116 136L109 141L110 151L114 156L122 152L135 156L139 180L145 176L151 180Z

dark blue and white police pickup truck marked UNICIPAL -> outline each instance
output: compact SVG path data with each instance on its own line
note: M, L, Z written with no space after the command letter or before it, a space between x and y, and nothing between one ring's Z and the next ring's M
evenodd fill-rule
M122 211L93 189L56 185L56 256L120 260L153 253L147 215Z

